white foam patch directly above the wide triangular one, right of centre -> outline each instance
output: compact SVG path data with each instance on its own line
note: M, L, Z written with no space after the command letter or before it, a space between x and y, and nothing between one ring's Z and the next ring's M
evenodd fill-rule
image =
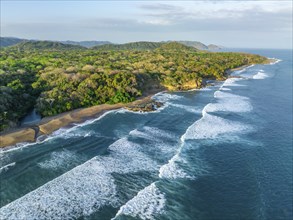
M249 98L245 96L216 91L214 97L217 99L217 102L208 104L205 108L206 112L249 112L253 109Z

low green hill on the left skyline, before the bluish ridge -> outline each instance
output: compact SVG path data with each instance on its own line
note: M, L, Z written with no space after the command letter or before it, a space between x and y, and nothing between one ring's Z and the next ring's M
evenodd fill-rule
M23 41L11 46L20 50L76 50L86 49L85 47L71 44L62 44L54 41Z

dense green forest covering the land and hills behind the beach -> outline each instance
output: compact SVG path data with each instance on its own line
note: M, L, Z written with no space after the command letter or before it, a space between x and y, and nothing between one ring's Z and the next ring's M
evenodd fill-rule
M128 103L159 90L200 88L227 70L266 62L244 53L200 51L177 42L137 42L87 49L21 42L0 50L0 131L31 109L52 116L103 103Z

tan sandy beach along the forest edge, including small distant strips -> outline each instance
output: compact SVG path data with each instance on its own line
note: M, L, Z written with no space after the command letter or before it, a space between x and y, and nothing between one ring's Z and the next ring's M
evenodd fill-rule
M276 61L277 60L274 58L268 58L266 64L274 63ZM229 78L232 72L245 69L248 66L250 65L243 65L237 68L226 70L227 78ZM37 140L38 137L42 135L49 135L60 128L71 126L74 123L82 123L88 119L98 118L110 110L147 103L151 100L151 97L153 95L162 91L165 90L157 89L153 91L148 91L145 96L126 104L101 104L88 108L75 109L55 116L45 117L36 124L24 128L15 128L11 131L8 131L7 133L1 134L0 148L14 146L15 144L21 142L33 143Z

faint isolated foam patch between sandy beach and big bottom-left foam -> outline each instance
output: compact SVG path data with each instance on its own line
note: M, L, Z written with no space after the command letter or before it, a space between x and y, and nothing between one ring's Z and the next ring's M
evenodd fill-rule
M63 169L72 164L78 164L80 158L74 152L69 150L52 152L50 159L38 163L38 166L43 169Z

